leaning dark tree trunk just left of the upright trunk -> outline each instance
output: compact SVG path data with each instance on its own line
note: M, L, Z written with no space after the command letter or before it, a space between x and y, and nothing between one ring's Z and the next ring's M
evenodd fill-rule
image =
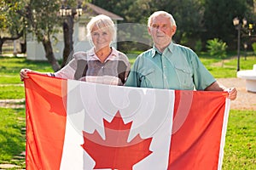
M61 66L55 59L55 54L53 53L53 48L51 42L49 41L49 38L44 38L42 42L44 46L45 57L48 59L49 64L52 66L54 71L60 70Z

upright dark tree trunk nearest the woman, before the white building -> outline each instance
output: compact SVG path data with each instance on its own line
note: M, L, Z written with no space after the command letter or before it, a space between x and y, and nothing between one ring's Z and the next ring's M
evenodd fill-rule
M67 16L63 22L64 49L61 67L67 65L67 62L73 57L73 17L73 15Z

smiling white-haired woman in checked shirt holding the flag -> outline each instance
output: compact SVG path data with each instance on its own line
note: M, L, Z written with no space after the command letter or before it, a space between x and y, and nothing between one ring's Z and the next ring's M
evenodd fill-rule
M125 54L110 45L115 39L113 20L103 14L93 17L87 25L87 37L93 48L73 54L73 59L60 71L42 73L21 69L20 80L28 78L27 72L33 72L64 79L124 85L130 71L130 63Z

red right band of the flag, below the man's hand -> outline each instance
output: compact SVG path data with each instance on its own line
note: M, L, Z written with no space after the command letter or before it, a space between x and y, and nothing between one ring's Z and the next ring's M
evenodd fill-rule
M175 92L168 169L218 169L226 96L219 92Z

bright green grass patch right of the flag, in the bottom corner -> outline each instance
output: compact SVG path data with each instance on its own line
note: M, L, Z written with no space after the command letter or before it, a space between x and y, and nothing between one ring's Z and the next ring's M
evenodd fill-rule
M223 169L256 169L256 112L230 111Z

